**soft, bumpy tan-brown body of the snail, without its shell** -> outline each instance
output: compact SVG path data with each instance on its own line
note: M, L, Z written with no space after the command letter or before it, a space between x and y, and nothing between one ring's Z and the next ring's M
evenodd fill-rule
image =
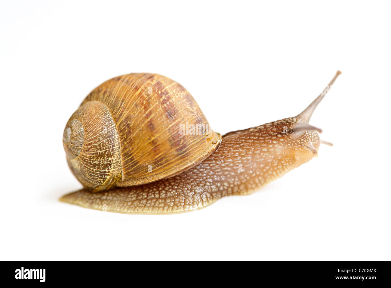
M211 131L210 135L213 136L209 136L209 139L212 138L210 141L212 143L215 141L217 144L208 147L214 147L213 145L217 147L220 144L218 149L212 148L211 152L206 153L208 154L206 157L204 154L194 157L198 159L193 162L195 164L187 163L188 168L182 169L179 174L176 170L171 177L163 174L163 177L156 181L137 186L111 186L113 188L100 192L85 187L63 196L61 201L126 214L172 214L204 208L224 196L251 194L263 185L312 159L317 155L321 143L328 144L319 139L317 132L321 130L309 125L308 121L317 104L323 99L340 73L338 71L316 100L295 117L229 132L222 136L221 144L219 134ZM97 101L91 94L87 99ZM99 105L98 103L94 102L93 105ZM97 121L103 121L105 117L106 114L102 112L102 119ZM114 127L116 127L115 123L114 121ZM80 124L71 117L67 127L72 125L78 127ZM107 129L111 131L114 127L109 125ZM68 140L69 131L66 131L64 137ZM87 133L84 138L86 135ZM206 135L202 136L206 138ZM201 143L209 143L204 141L204 138L201 137ZM118 148L122 149L121 145L115 146L115 135L109 139L113 139L113 142L110 142L113 151ZM80 147L80 142L81 135L76 133L75 143L79 145L76 145L77 147ZM115 161L113 163L116 163ZM115 165L113 167L117 169ZM170 169L170 167L164 168L165 165L161 167L162 170ZM119 179L117 183L121 181L122 179Z

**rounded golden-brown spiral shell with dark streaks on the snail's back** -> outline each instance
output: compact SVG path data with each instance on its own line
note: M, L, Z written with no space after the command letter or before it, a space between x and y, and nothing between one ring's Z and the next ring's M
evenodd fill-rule
M93 191L168 178L221 142L179 83L158 74L115 77L95 88L66 124L68 165Z

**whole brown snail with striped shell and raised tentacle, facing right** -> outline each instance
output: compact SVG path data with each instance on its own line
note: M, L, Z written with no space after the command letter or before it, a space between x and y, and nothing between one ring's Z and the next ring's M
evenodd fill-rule
M308 124L326 89L295 117L214 132L190 93L158 74L115 77L68 120L63 146L83 189L60 200L125 214L173 214L248 195L317 156Z

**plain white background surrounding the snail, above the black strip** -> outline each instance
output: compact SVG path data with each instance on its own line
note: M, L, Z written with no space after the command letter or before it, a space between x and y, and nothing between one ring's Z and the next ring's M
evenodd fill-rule
M2 1L1 260L391 260L386 2ZM319 157L250 196L145 216L60 203L65 123L97 85L154 72L222 134L294 116Z

